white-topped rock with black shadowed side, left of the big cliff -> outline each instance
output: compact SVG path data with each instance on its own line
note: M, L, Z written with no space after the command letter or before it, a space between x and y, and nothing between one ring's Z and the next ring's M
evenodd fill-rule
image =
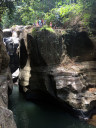
M17 54L17 48L19 47L19 38L16 31L12 29L5 29L4 32L4 44L7 49L7 53L10 56L9 67L11 73L15 72L19 68L19 58ZM10 33L11 34L10 34Z

